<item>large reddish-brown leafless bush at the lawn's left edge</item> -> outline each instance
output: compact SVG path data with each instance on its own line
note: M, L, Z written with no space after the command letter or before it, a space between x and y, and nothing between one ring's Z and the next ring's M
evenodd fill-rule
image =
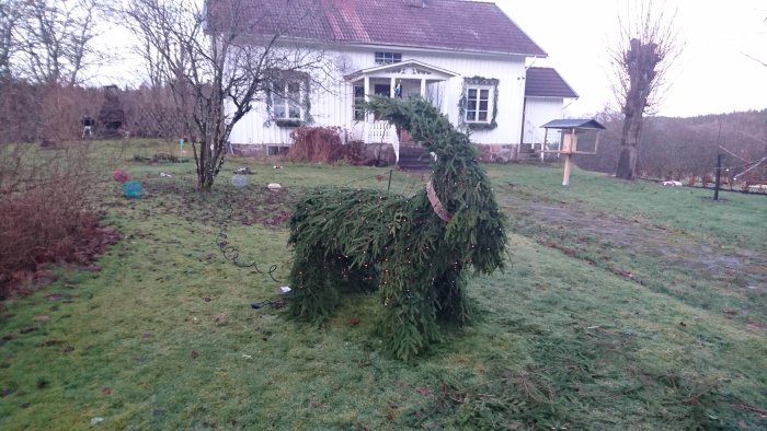
M87 145L0 145L0 299L49 263L90 265L117 235L90 205Z

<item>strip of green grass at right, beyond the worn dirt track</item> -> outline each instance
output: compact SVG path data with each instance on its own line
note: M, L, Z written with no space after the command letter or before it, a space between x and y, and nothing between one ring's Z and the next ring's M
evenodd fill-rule
M714 242L767 251L767 197L688 187L661 187L651 182L605 180L605 174L574 170L570 187L561 187L559 167L489 165L501 187L519 186L517 195L536 200L580 203L593 211L651 225L692 232Z

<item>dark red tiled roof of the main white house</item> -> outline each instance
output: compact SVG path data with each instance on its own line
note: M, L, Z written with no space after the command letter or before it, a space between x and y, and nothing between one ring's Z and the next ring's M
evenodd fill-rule
M546 56L494 3L424 0L422 8L420 0L208 0L211 27L225 22L216 11L239 1L245 5L237 16L249 20L255 34L287 28L286 36L323 42Z

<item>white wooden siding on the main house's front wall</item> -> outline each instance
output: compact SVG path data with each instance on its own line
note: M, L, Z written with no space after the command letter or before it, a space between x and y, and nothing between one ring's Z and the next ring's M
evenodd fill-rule
M402 53L402 60L419 60L437 68L449 70L458 77L449 79L443 92L442 109L454 125L458 124L458 102L463 78L494 78L499 82L497 127L493 130L472 131L472 141L481 144L518 143L522 133L522 110L525 91L525 58L497 57L473 54L423 51L400 49L397 47L344 47L325 48L328 58L340 67L335 75L328 79L323 86L310 90L310 114L312 126L341 127L351 138L362 138L363 127L354 121L354 90L344 80L344 75L360 69L377 66L376 51ZM407 89L405 89L407 90ZM560 104L561 108L561 104ZM267 125L268 113L265 103L255 103L253 109L233 128L230 142L234 144L290 144L291 128Z

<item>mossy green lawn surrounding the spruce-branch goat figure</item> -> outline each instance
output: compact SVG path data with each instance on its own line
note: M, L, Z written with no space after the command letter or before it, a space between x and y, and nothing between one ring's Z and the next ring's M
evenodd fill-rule
M285 283L302 190L410 194L421 176L230 159L197 194L193 162L133 161L157 152L123 155L144 199L102 185L124 240L100 270L56 268L2 304L0 429L767 429L765 197L489 165L508 268L472 279L479 322L404 363L369 335L375 294L322 327L250 304ZM259 270L222 257L224 226Z

